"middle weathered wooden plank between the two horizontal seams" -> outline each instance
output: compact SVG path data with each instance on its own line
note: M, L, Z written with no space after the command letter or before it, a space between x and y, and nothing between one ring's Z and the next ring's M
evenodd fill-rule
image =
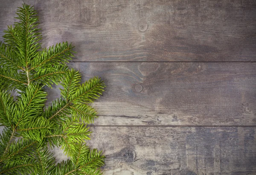
M70 63L106 83L96 125L256 125L256 63ZM58 89L47 89L49 101Z

